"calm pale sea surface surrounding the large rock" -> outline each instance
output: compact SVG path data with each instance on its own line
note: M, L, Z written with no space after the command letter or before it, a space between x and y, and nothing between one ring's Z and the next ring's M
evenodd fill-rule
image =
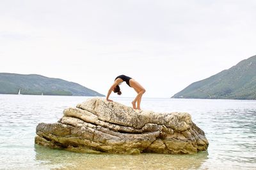
M143 98L141 108L184 111L209 140L193 155L74 153L34 144L36 125L90 97L0 95L0 169L256 169L256 101ZM132 98L114 101L131 106Z

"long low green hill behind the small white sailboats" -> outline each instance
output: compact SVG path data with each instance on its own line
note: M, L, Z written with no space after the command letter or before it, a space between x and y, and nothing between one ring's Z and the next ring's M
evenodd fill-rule
M60 78L48 78L38 74L0 73L0 94L35 94L57 96L103 96Z

